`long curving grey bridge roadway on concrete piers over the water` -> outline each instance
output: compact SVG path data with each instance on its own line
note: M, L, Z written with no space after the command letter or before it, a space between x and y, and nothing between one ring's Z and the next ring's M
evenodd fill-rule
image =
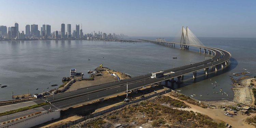
M156 43L156 44L165 45L165 46L173 46L173 44L175 46L175 44L176 45L180 44L180 43L174 43L174 42L157 42L153 40L144 40L144 39L140 39L140 40L144 42L151 42L151 43ZM207 74L208 69L211 67L212 68L215 67L215 70L218 70L217 69L218 65L221 65L222 68L224 68L224 66L227 65L228 63L229 58L231 57L231 54L229 52L219 48L198 46L198 45L189 45L189 46L198 47L200 48L200 50L201 48L203 48L204 53L206 53L207 52L206 50L208 50L208 54L211 53L212 55L214 54L214 56L212 57L212 59L197 62L197 63L194 63L193 65L185 65L181 67L164 70L163 72L165 74L174 72L172 74L168 74L168 76L164 76L160 78L151 78L150 77L151 74L145 74L145 75L133 77L127 80L95 85L91 87L81 88L79 90L71 91L68 93L50 96L44 99L39 99L37 100L37 102L45 102L47 100L51 103L51 105L42 107L43 110L47 110L47 108L49 107L51 107L52 110L67 109L77 104L82 104L85 102L109 97L111 95L123 93L126 91L126 84L128 84L128 90L134 90L150 84L155 84L155 83L160 84L160 82L173 79L174 77L177 77L179 81L181 76L189 73L193 73L193 76L196 78L197 71L205 70L205 73ZM19 113L17 115L21 116L20 114L22 113ZM11 117L13 117L13 119L17 118L13 114L11 115Z

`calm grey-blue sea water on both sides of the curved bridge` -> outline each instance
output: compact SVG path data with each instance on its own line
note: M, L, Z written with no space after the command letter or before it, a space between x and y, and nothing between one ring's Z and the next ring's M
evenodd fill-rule
M154 37L140 37L153 39ZM172 38L166 38L171 41ZM248 71L255 76L256 39L245 38L199 38L206 46L222 48L232 54L230 65L208 76L198 72L184 76L183 84L168 82L186 95L196 94L199 100L220 100L233 98L229 76L232 73ZM103 58L104 57L104 58ZM172 59L177 57L177 59ZM70 69L87 75L89 69L100 64L104 67L138 76L159 70L188 65L202 61L208 55L199 54L199 49L190 47L182 50L176 45L165 47L153 43L123 43L105 41L2 41L0 42L0 100L12 99L14 95L41 93L53 89L52 84L62 84L63 76L69 76ZM90 59L90 60L88 60ZM245 70L246 69L246 70ZM210 81L210 79L212 81ZM211 83L216 81L219 86ZM51 83L49 83L51 82ZM162 84L165 84L164 82ZM49 88L48 88L49 87ZM213 88L215 87L215 88ZM36 90L38 88L38 90ZM48 89L47 89L48 88ZM229 96L219 93L222 88ZM218 94L213 92L218 92ZM199 95L203 97L200 97ZM207 95L208 94L208 95Z

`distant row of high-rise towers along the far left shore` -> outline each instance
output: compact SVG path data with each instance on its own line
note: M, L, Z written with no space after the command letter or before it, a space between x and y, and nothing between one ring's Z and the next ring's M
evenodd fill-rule
M60 25L60 30L51 31L51 25L42 25L38 28L37 24L26 25L25 33L24 31L19 31L19 24L15 22L14 26L6 27L0 26L0 39L8 40L24 40L24 39L112 39L116 37L122 37L124 34L116 35L115 33L108 35L106 33L91 32L84 34L82 24L75 25L75 30L71 34L71 24L67 24L67 29L65 29L65 24ZM67 30L67 31L66 31Z

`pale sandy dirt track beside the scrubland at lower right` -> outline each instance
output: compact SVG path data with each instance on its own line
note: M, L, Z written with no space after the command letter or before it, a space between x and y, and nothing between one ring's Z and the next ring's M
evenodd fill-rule
M169 96L173 99L177 99L173 96L170 96L169 94L164 94L165 96ZM180 100L180 99L177 99ZM183 100L180 100L183 101ZM199 112L205 115L208 115L209 117L211 117L212 119L214 119L216 122L225 122L228 123L229 125L232 126L232 128L255 128L252 125L248 125L246 123L243 122L244 119L246 119L247 117L252 117L255 116L256 113L253 113L250 116L247 115L242 115L240 112L237 113L237 115L235 115L234 117L228 117L226 115L224 115L224 113L226 111L222 110L222 109L203 109L200 106L194 105L194 104L190 104L186 101L183 101L185 104L189 105L191 108L185 108L182 110L188 110L188 111L194 111L194 112Z

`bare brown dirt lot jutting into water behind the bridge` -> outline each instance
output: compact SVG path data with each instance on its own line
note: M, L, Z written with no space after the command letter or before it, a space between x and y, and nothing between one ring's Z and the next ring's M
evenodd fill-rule
M110 75L109 71L102 71L102 74L103 74L102 76L94 77L94 81L76 81L65 92L74 91L79 88L89 87L92 85L104 84L104 83L117 81L117 78L115 76ZM87 74L85 74L85 75L87 75Z

